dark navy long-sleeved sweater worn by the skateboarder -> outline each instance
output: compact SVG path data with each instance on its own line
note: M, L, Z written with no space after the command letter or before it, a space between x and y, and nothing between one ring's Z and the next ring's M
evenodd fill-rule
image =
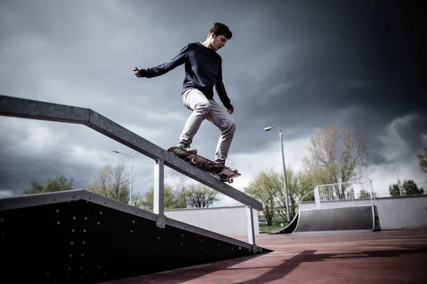
M214 86L224 107L231 109L233 105L227 96L222 81L221 56L211 48L206 48L199 42L188 43L171 60L142 70L144 77L152 78L173 70L185 63L185 77L182 92L186 89L199 89L208 99L214 98Z

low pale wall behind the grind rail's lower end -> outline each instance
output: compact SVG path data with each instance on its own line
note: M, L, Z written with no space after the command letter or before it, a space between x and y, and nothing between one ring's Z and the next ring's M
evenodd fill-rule
M258 211L253 211L255 234L259 234ZM165 209L166 217L226 236L247 236L246 206Z

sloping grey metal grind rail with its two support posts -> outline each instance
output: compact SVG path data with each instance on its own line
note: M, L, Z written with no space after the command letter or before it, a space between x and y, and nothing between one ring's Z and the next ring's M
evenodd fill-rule
M233 198L233 200L245 204L248 216L248 243L252 244L254 251L256 251L252 209L262 211L263 204L261 202L221 182L203 170L189 165L174 154L125 129L96 111L65 104L0 95L0 115L23 119L58 121L68 124L83 124L152 158L154 160L154 213L157 214L157 226L160 228L164 228L166 222L166 217L164 216L164 165L221 192L223 195Z

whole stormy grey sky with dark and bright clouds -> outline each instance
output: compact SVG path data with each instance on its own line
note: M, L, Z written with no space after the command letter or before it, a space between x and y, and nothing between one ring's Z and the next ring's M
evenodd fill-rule
M310 136L335 125L367 141L368 178L385 196L397 170L427 181L416 158L427 146L427 10L403 3L3 0L0 94L90 108L166 149L190 114L181 101L184 66L151 79L132 70L159 65L204 41L212 23L226 23L233 38L219 54L237 126L227 164L243 174L233 187L282 170L278 131L266 126L280 126L286 163L298 170ZM80 125L1 116L0 133L1 197L57 175L86 188L103 165L124 161L130 170L130 157L113 150L135 152ZM218 134L205 121L192 146L213 158ZM140 153L134 162L143 194L153 162ZM165 180L179 176L167 169Z

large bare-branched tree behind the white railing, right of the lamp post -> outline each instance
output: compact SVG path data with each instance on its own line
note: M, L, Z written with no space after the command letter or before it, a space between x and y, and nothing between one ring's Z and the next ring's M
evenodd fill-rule
M352 129L329 126L310 139L310 156L304 163L317 173L320 184L350 182L364 177L367 170L367 144ZM344 193L344 192L341 192Z

